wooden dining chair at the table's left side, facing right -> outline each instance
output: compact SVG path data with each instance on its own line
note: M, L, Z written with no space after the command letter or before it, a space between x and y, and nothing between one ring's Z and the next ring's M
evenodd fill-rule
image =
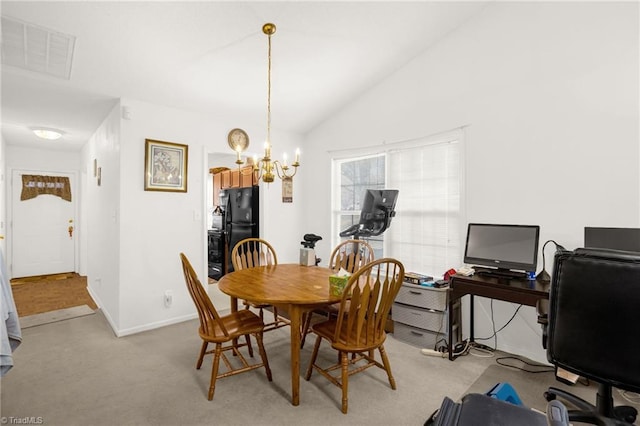
M264 322L259 316L246 310L220 316L184 253L180 253L180 260L182 261L182 271L184 272L184 279L187 283L189 294L196 305L198 317L200 318L200 328L198 329L198 332L202 339L202 347L200 348L200 356L198 357L196 368L200 369L205 355L214 355L213 368L211 370L211 382L209 384L209 401L213 399L216 380L223 377L233 376L235 374L244 373L245 371L264 367L267 373L267 378L269 381L272 381L267 353L265 352L264 345L262 343ZM249 355L253 357L253 350L251 349L251 340L249 335L253 335L256 338L258 350L260 351L260 358L262 359L261 363L249 364L239 350L241 347L247 346ZM243 336L245 337L246 343L237 343L238 338ZM208 351L207 347L209 346L209 343L215 344L215 348ZM241 366L234 367L226 357L224 353L225 351L232 351L235 355L233 360L234 364L236 366L241 364ZM227 367L227 371L223 373L218 372L221 359Z

